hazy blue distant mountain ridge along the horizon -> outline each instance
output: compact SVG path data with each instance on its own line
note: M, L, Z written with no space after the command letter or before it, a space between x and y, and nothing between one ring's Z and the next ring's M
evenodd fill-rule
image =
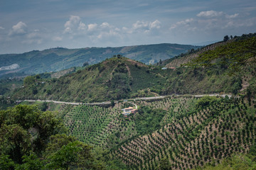
M33 50L23 54L6 54L0 55L0 67L9 67L12 64L18 64L19 67L1 69L0 79L6 74L9 77L18 73L24 75L39 74L56 72L70 67L81 67L85 62L96 64L118 54L145 64L154 64L159 60L166 60L198 47L200 46L164 43L126 47L85 47L80 49L57 47L42 51Z

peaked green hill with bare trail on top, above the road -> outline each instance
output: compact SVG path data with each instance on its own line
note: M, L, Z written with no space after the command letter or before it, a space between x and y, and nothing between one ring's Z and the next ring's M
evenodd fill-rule
M59 101L106 101L137 96L140 90L164 84L165 79L149 66L125 57L112 57L59 79L26 77L14 98L41 98ZM149 93L150 94L150 93Z

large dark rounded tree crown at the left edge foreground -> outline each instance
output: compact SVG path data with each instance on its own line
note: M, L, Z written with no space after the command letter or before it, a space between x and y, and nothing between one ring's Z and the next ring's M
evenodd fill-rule
M40 154L51 135L64 130L56 115L41 112L36 106L18 105L0 111L0 154L10 155L21 164L23 155Z

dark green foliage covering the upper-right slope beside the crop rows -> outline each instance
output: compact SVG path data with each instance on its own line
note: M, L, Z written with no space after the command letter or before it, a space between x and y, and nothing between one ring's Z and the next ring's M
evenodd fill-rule
M191 62L192 66L210 66L223 64L230 69L230 74L240 72L247 64L255 64L256 38L247 38L216 47L215 50L203 52Z

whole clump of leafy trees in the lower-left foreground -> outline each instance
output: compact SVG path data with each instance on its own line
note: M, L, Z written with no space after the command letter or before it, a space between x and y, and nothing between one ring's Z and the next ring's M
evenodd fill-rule
M104 169L92 147L64 132L55 113L36 106L0 111L0 169Z

